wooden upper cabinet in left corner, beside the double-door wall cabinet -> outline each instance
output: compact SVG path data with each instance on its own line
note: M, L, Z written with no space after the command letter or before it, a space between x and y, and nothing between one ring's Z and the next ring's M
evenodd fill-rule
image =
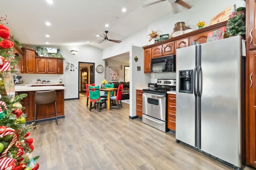
M22 48L24 53L23 63L20 65L21 69L24 70L21 73L35 73L36 72L36 64L35 64L35 54L36 50Z

